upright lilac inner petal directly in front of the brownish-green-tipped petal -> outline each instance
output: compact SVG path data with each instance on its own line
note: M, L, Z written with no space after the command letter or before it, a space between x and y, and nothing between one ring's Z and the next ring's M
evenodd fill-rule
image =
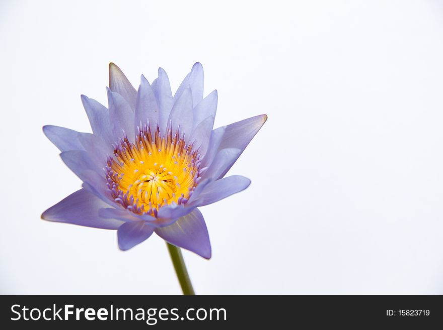
M134 113L128 102L119 93L109 88L108 102L114 141L117 142L123 138L122 130L125 131L129 141L134 141Z

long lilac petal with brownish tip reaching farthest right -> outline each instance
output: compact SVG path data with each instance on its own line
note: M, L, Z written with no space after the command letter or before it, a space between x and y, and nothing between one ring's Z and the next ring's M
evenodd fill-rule
M245 150L246 146L249 144L249 142L251 142L252 138L257 134L267 119L268 117L266 115L259 115L226 126L225 135L218 146L218 150L225 148L238 148L241 150L240 154L238 155L238 157L240 157L243 150ZM234 165L238 157L232 160L232 163L220 173L218 178L225 176L232 165Z

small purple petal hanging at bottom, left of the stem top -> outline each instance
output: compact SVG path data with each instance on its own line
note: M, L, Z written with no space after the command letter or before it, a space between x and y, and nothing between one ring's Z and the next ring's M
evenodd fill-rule
M154 228L147 226L144 221L127 222L117 231L118 247L120 250L129 250L143 242L154 233Z

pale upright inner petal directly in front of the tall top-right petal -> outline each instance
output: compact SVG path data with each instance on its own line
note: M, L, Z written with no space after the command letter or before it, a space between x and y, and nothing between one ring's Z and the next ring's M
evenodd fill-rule
M180 135L184 134L188 138L192 130L192 92L191 88L185 88L180 98L174 102L171 114L169 115L168 125L172 129L172 134L177 132L180 127Z

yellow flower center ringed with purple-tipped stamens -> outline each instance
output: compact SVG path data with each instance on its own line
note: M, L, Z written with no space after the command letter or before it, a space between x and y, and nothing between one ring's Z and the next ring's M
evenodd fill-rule
M108 189L115 201L135 213L157 216L165 204L186 203L199 176L200 162L193 146L171 130L154 136L148 125L139 130L135 143L127 137L108 157Z

